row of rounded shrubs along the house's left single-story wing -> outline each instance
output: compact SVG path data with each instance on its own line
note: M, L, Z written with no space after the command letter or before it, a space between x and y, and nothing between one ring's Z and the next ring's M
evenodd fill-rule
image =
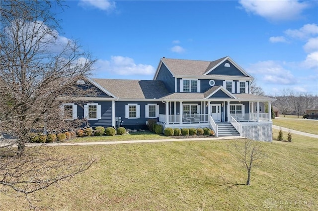
M78 129L76 132L69 131L64 133L58 133L58 134L48 134L48 135L39 135L36 133L30 133L29 139L31 142L34 143L49 143L49 142L56 142L56 141L63 141L66 139L71 139L72 137L82 137L82 136L114 136L117 133L117 135L123 135L126 133L126 129L124 127L117 128L117 131L113 127L95 127L93 130L92 128L84 128L84 129Z

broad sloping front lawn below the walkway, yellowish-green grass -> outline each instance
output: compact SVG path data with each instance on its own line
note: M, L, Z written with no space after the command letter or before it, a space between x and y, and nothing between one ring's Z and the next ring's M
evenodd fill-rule
M293 142L262 143L267 158L252 170L251 186L236 185L246 181L246 172L229 143L59 147L61 155L97 161L70 182L38 192L36 204L63 211L318 210L317 139L293 134ZM0 194L0 210L26 210L23 198L8 194Z

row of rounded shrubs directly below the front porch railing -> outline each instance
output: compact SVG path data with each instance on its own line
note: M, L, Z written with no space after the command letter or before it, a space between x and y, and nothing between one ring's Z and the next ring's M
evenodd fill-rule
M161 128L162 128L162 125L160 125ZM162 130L162 129L161 129ZM156 132L157 133L157 132ZM157 133L159 134L159 133ZM195 136L195 135L198 135L198 136L202 136L202 135L206 135L206 136L211 136L211 135L214 135L214 131L211 130L210 128L170 128L170 127L167 127L164 129L163 131L163 134L165 136Z

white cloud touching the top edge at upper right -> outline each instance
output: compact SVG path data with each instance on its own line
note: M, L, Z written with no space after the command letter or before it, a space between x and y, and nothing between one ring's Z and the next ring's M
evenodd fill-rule
M308 2L297 0L240 0L246 12L260 15L273 21L294 20L301 17Z

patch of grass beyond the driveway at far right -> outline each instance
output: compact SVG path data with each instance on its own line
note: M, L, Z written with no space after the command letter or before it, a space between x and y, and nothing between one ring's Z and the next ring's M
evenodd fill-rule
M275 118L272 120L273 125L318 135L318 121L315 120L290 118Z

